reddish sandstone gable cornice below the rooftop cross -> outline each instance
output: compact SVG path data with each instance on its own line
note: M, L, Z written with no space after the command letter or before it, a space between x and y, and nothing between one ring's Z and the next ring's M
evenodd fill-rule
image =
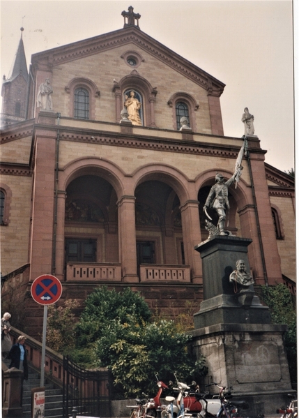
M174 68L178 73L199 84L208 91L209 95L221 96L225 87L224 83L162 45L158 40L148 36L136 26L124 27L123 29L93 38L38 52L32 55L31 63L33 64L33 70L51 70L53 66L89 57L90 55L98 54L98 52L112 50L115 47L129 43L137 45L142 50L148 52L148 54L160 59L164 64Z

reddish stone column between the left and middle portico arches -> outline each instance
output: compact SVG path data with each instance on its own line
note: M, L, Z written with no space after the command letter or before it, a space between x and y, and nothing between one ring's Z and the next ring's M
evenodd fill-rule
M118 239L123 281L136 283L137 252L135 228L135 196L122 196L118 206Z

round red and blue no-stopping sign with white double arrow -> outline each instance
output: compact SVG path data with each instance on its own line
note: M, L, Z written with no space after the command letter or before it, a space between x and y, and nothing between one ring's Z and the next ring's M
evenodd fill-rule
M33 281L31 296L40 305L52 305L62 294L61 281L52 274L43 274Z

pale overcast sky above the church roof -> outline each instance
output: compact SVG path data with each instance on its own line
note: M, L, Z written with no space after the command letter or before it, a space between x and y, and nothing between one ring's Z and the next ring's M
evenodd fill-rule
M242 137L248 107L266 163L294 167L291 0L1 0L1 77L20 27L29 67L31 54L121 29L128 6L141 15L141 31L226 84L224 135Z

